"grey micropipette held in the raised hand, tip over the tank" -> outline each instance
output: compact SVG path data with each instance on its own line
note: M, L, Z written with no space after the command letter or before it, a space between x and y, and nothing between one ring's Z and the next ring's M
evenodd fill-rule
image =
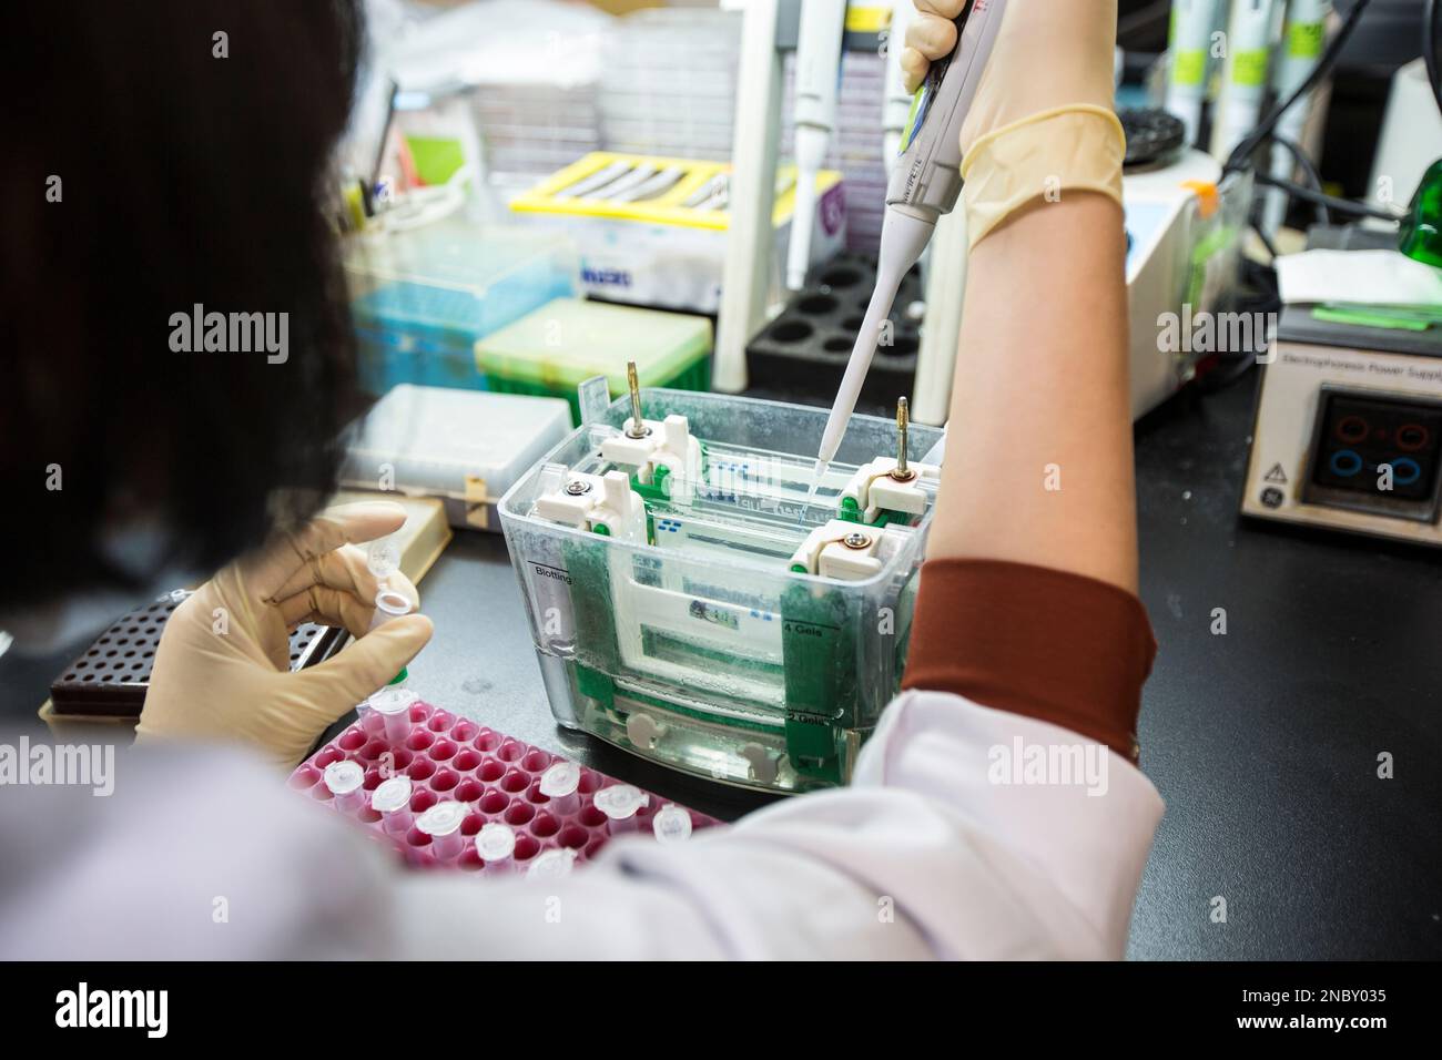
M813 495L826 466L841 449L857 398L861 397L861 385L877 353L881 324L891 313L901 278L921 257L937 219L952 212L962 192L962 123L976 98L976 88L1005 14L1007 0L972 0L956 19L956 49L949 58L932 63L911 104L911 120L901 138L901 157L887 185L877 290L867 306L836 404L826 420L813 472Z

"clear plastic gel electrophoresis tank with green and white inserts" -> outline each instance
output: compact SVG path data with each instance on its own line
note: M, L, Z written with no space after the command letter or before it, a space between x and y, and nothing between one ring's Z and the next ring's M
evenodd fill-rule
M845 783L900 686L942 433L911 428L898 467L897 424L855 417L808 503L826 410L640 405L500 502L557 720L725 783Z

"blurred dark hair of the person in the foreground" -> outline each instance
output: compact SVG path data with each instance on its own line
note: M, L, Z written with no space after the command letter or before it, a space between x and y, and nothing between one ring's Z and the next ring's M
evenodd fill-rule
M314 509L360 411L327 224L360 13L30 0L6 14L23 45L0 123L0 485L19 562L0 603L136 586L162 562L211 570L271 526L275 487L284 518ZM170 317L198 303L287 313L288 359L173 352ZM124 526L160 529L162 562L117 564L105 535Z

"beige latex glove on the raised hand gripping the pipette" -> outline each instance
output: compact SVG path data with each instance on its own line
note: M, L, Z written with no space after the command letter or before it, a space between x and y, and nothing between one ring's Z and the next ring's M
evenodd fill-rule
M914 91L956 48L965 0L914 0L900 63ZM1122 200L1126 138L1113 111L1116 0L1007 0L996 46L962 124L970 241L1069 190Z

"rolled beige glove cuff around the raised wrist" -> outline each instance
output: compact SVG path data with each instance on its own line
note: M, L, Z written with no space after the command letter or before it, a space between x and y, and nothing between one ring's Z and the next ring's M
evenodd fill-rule
M1099 192L1122 202L1126 134L1106 107L1041 111L979 138L962 160L970 245L1034 199Z

